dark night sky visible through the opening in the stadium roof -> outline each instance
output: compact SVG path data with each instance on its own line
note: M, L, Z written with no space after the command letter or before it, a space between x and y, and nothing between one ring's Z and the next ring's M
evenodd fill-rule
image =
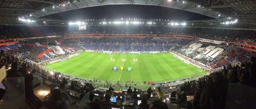
M106 5L95 6L60 12L44 16L43 18L83 20L83 19L119 19L119 18L139 18L139 19L170 19L170 20L196 20L213 19L208 16L165 8L161 6L145 5Z

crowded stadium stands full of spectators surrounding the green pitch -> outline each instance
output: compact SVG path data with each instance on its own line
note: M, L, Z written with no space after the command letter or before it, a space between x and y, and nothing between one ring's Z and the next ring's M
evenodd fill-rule
M226 98L232 98L231 93L235 93L229 90L230 86L246 85L248 88L256 86L256 52L243 49L249 47L248 45L254 46L250 49L255 49L255 31L203 28L162 29L145 26L132 29L111 26L102 29L102 26L95 26L86 31L70 30L65 26L1 26L0 28L1 43L8 42L4 41L7 39L14 41L16 38L28 38L18 40L18 43L13 45L0 47L0 68L5 66L8 69L7 80L8 78L24 78L26 100L37 109L67 109L68 107L127 109L136 106L150 109L174 109L174 107L225 109L232 105ZM41 38L42 36L54 37ZM29 39L32 37L36 38ZM184 37L189 37L189 39L182 39ZM199 38L225 41L225 43L202 42L199 41ZM66 53L55 53L60 49L51 49L50 47L54 46L52 43L57 44ZM212 46L225 50L214 58L196 58L195 55L184 52L184 49L193 49L191 45L194 43L200 43L203 47ZM148 90L133 90L131 93L130 91L129 93L127 91L118 93L112 88L114 84L121 86L118 81L103 81L97 77L91 80L81 80L58 72L51 74L52 72L44 70L41 65L51 60L67 58L83 49L122 52L172 51L194 61L202 62L212 69L221 69L211 71L208 76L186 80L180 84L152 84L152 90L148 88ZM195 49L199 51L200 48ZM238 61L240 64L231 64L234 61ZM38 65L36 62L40 64ZM38 84L32 84L32 80ZM95 82L104 83L104 87L96 86ZM38 97L35 95L36 91L33 90L40 84L44 84L49 90L41 94L45 96L46 100L41 100L42 96ZM19 88L17 84L13 84L13 86ZM243 95L241 94L241 96ZM88 99L88 101L84 99ZM238 100L238 102L241 105L246 104L243 100ZM238 107L242 107L241 105ZM247 109L253 109L253 106L255 105L248 105Z

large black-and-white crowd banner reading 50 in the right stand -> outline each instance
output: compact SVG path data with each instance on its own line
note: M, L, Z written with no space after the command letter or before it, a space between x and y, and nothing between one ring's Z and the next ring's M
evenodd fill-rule
M194 59L206 60L206 61L213 60L218 55L220 55L223 51L224 49L222 48L211 46L211 45L210 46L203 45L201 43L193 43L190 46L188 46L186 49L182 49L182 53L186 54L187 56L193 57Z

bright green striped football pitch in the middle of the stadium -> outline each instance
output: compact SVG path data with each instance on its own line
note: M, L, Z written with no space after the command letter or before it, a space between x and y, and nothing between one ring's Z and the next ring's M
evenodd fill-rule
M113 66L116 66L118 70L112 70ZM124 66L124 70L120 70L120 66ZM132 71L128 71L128 67L132 67ZM98 78L99 80L125 82L130 79L138 83L144 81L171 82L202 76L206 73L206 71L192 64L187 64L170 53L108 54L83 52L70 59L47 64L44 68L86 80Z

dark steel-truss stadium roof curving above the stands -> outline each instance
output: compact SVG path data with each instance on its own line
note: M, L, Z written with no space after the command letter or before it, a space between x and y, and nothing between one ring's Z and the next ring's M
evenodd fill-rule
M43 16L79 8L118 4L154 5L195 12L216 19L187 21L197 27L222 27L227 18L238 19L230 28L256 29L255 0L1 0L0 24L22 24L18 17L36 21L37 25L66 25L68 21Z

